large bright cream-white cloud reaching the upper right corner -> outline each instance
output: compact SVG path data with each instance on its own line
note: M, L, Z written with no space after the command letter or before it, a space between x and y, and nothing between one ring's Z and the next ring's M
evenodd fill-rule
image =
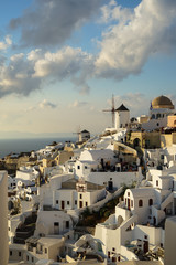
M129 18L114 4L105 10L107 20L117 18L119 22L102 34L95 63L97 76L122 80L139 74L150 56L175 50L174 0L143 0Z

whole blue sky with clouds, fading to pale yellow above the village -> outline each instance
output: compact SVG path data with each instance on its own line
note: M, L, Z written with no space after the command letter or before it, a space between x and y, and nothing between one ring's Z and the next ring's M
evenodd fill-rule
M3 0L0 137L111 126L165 95L176 104L175 0Z

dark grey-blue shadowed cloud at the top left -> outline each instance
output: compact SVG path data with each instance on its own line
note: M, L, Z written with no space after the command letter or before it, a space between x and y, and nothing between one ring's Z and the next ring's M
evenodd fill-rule
M34 0L22 17L11 20L10 28L21 29L25 46L62 44L97 13L101 3L102 0Z

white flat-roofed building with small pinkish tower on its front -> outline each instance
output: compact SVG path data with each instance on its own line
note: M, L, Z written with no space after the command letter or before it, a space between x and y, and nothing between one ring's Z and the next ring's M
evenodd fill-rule
M61 182L61 178L52 178L50 184L40 189L40 204L41 209L48 205L58 210L81 209L105 199L106 194L105 186L85 182L81 179L72 178Z

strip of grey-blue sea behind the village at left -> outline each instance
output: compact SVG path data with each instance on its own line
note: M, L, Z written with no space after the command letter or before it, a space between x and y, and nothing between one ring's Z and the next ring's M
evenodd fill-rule
M0 158L9 153L20 153L28 151L37 151L53 141L65 142L76 141L75 137L52 137L52 138L29 138L29 139L0 139Z

